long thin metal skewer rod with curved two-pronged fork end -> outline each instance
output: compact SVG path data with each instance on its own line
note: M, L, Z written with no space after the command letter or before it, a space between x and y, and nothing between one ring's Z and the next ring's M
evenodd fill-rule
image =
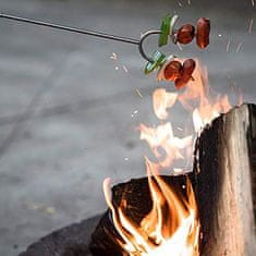
M134 39L134 38L130 38L130 37L122 37L122 36L106 34L106 33L90 31L90 29L83 29L83 28L77 28L77 27L71 27L71 26L64 26L64 25L42 22L42 21L38 21L38 20L32 20L32 19L27 19L27 17L14 16L14 15L5 14L5 13L0 13L0 17L12 20L12 21L17 21L17 22L29 23L29 24L39 25L39 26L57 28L57 29L61 29L61 31L72 32L72 33L77 33L77 34L95 36L95 37L99 37L99 38L103 38L103 39L110 39L110 40L136 45L136 46L138 46L138 51L141 53L141 56L149 62L154 62L154 61L151 58L149 58L145 53L144 48L143 48L143 42L150 35L161 34L160 31L148 31L142 35L141 39Z

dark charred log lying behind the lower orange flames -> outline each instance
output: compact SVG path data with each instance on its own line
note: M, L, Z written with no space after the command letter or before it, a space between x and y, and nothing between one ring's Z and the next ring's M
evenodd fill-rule
M181 197L186 197L186 175L161 176L163 181L172 187L172 191L181 193ZM147 178L134 179L130 182L118 184L112 187L112 202L115 207L120 207L122 202L126 202L125 215L139 227L141 221L153 208L150 190ZM121 236L117 232L111 211L108 210L99 221L92 235L89 249L94 256L123 256L127 255L118 243ZM139 255L139 254L138 254Z

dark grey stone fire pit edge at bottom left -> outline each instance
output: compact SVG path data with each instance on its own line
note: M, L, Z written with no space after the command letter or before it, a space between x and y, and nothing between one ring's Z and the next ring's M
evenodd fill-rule
M19 256L90 256L90 235L101 216L57 230L29 245Z

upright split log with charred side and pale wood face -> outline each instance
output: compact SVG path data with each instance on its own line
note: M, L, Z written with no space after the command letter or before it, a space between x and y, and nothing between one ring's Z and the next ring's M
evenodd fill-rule
M202 255L256 252L256 106L216 119L197 139L195 192Z

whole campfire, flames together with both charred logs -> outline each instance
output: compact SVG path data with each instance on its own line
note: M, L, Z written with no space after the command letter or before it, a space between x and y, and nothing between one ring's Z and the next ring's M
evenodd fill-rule
M166 88L154 92L154 110L161 123L155 127L141 124L139 132L156 160L145 157L147 179L114 186L112 197L110 179L105 180L109 211L93 234L93 255L254 255L255 231L253 237L241 237L252 232L243 222L254 223L251 179L255 176L255 168L249 163L252 149L249 151L245 145L247 131L241 131L243 123L240 121L244 120L252 129L251 115L256 117L255 107L244 105L230 111L227 95L211 97L209 92L207 72L199 61L196 61L193 80L183 92L169 93ZM173 124L166 121L178 102L190 112L194 124L194 132L183 137L175 136ZM236 106L241 103L239 96ZM242 144L245 151L240 148ZM241 163L237 163L237 151L244 158ZM193 157L194 172L190 172ZM227 166L228 158L230 166ZM175 167L178 163L180 166ZM171 175L162 175L167 170ZM247 176L242 178L243 172L247 172ZM240 182L248 187L243 187ZM245 194L249 196L246 206L249 214L245 212L243 202L236 202L242 199L237 193L242 193L243 199ZM229 210L234 215L230 216ZM244 220L240 214L249 220ZM229 237L231 234L236 237ZM105 241L103 235L108 236ZM252 241L245 247L247 239Z

